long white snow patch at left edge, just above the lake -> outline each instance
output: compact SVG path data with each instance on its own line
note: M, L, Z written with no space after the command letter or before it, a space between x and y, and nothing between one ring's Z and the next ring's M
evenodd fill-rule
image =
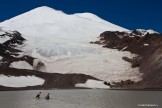
M27 87L43 85L44 79L38 78L36 76L5 76L0 75L0 85L6 87Z

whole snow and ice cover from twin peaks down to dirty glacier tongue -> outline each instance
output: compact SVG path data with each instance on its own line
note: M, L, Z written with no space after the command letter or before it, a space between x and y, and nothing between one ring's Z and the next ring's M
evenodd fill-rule
M131 68L131 64L122 59L124 56L132 58L136 55L89 43L98 40L97 37L104 31L128 31L94 14L68 15L43 6L6 20L0 26L22 33L27 41L19 46L23 51L21 55L32 56L44 63L42 71L83 73L108 82L141 80L139 69ZM35 64L37 61L34 67ZM33 68L24 61L14 62L11 67ZM91 82L88 80L82 86L91 86Z

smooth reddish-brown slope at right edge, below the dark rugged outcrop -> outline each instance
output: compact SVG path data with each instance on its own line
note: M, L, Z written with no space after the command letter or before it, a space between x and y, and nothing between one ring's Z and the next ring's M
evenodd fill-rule
M145 57L140 71L144 73L143 80L137 84L146 88L162 88L162 45L159 45Z

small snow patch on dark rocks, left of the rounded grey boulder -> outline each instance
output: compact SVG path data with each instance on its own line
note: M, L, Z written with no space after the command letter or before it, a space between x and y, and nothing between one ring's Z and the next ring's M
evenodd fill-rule
M12 62L9 67L17 68L17 69L30 69L30 70L33 69L33 67L29 63L27 63L26 61Z

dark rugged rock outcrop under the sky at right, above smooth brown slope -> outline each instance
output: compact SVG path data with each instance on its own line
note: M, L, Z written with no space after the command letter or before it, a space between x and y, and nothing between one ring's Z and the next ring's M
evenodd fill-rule
M150 47L159 45L162 41L161 34L140 36L139 34L134 34L134 31L131 33L106 31L100 35L100 41L94 43L102 44L106 48L130 51L145 56Z

